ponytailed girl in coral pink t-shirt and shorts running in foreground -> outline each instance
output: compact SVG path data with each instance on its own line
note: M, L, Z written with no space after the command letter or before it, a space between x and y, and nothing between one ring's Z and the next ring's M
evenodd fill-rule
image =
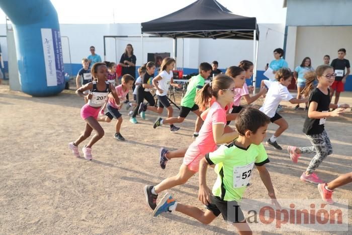
M177 185L185 184L198 172L199 162L204 155L217 149L217 144L226 143L236 138L237 132L224 133L226 124L225 106L232 102L235 92L233 80L223 74L217 75L213 82L204 86L197 94L198 105L202 105L213 96L216 101L211 106L207 118L199 132L199 136L186 151L179 174L163 180L156 186L146 185L144 194L147 205L155 209L159 193Z

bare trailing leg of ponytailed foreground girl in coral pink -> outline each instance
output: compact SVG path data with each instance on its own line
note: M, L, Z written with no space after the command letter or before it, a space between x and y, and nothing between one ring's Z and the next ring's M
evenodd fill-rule
M158 185L154 186L155 193L159 194L166 189L186 184L186 182L195 174L196 172L189 170L187 166L182 164L180 167L179 174L166 178L161 181Z

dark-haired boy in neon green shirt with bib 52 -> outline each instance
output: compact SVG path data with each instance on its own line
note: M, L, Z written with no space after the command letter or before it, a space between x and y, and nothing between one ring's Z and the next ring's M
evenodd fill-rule
M255 165L263 184L268 189L272 203L280 208L276 200L270 174L265 167L269 163L268 155L262 145L270 119L259 110L247 108L241 110L236 119L236 129L239 137L229 145L222 145L214 152L206 154L199 165L198 198L206 205L207 210L176 202L169 193L158 203L153 215L162 212L179 211L202 223L208 224L222 214L224 220L233 222L240 234L250 231L243 212L238 207L237 215L228 211L228 205L238 205L252 175ZM212 192L206 184L208 165L215 165L218 175ZM233 208L233 207L232 207Z

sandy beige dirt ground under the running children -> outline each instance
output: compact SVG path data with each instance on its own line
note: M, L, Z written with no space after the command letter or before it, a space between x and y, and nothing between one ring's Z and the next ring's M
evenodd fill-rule
M179 95L177 98L179 100ZM343 93L341 103L352 105L352 94ZM260 104L259 100L257 104ZM58 96L35 98L0 86L0 233L1 234L121 234L121 233L197 233L230 234L221 216L210 225L175 212L156 218L147 208L143 186L155 185L178 173L182 159L171 160L166 169L158 165L160 147L187 147L192 141L196 116L190 114L178 133L167 127L152 128L156 115L146 113L138 124L128 121L123 108L121 128L125 142L113 138L114 123L103 123L105 136L93 147L93 161L75 158L67 144L82 132L84 121L80 108L84 101L73 91ZM289 106L288 103L283 105ZM302 134L305 112L285 106L281 115L289 129L279 138L284 149L288 144L307 146ZM174 115L179 111L174 109ZM163 113L163 116L166 114ZM233 125L233 123L232 123ZM269 127L269 137L276 129ZM352 113L330 118L326 122L334 152L317 173L330 181L342 173L352 172ZM85 144L87 141L84 141ZM81 147L80 145L80 153ZM267 164L278 198L319 198L316 185L303 183L299 176L312 155L304 155L297 165L291 163L286 150L267 147L271 160ZM216 175L208 170L209 187ZM198 175L184 186L168 190L182 203L203 208L198 201ZM256 171L245 198L267 198L267 190ZM352 202L352 185L335 190L334 198ZM349 232L352 234L349 210ZM287 232L255 232L288 234ZM330 232L292 232L290 234L330 234Z

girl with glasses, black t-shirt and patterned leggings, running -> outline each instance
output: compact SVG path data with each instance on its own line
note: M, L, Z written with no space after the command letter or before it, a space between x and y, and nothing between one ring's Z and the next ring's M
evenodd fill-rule
M315 153L307 170L302 173L300 179L305 182L321 184L323 181L314 172L326 156L332 153L332 145L324 126L326 118L340 116L349 105L330 104L329 87L333 84L336 76L332 66L320 65L315 72L318 85L309 96L308 115L303 125L303 133L307 136L312 146L300 148L288 146L287 150L294 163L297 163L302 153ZM335 110L329 112L329 108Z

